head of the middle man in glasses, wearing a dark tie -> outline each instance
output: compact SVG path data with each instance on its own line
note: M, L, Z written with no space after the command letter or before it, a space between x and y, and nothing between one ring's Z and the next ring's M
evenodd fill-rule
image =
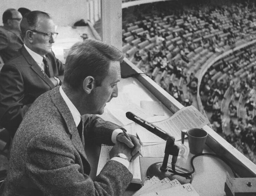
M21 35L26 46L43 56L51 52L51 47L58 33L56 25L48 13L31 11L20 23Z

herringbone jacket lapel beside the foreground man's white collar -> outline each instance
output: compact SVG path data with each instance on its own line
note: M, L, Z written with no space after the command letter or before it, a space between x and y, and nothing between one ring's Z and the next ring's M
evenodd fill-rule
M76 127L74 118L72 117L72 114L71 114L67 104L65 103L64 99L62 98L62 96L60 94L59 87L56 87L52 92L53 92L53 93L51 93L52 100L65 121L65 125L67 127L67 132L70 134L70 139L71 139L74 147L76 148L76 150L78 151L78 153L81 156L84 173L89 175L91 166L90 166L90 163L85 154L84 145L82 144L81 138L77 131L77 127ZM84 123L84 120L83 120L83 123ZM84 125L83 125L83 127L84 127Z

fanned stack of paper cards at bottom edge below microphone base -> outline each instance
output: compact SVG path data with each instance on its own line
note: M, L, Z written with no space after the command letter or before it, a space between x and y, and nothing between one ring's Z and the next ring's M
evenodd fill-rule
M167 177L159 180L153 176L145 182L145 185L132 196L199 196L190 184L180 184L176 179L169 180Z

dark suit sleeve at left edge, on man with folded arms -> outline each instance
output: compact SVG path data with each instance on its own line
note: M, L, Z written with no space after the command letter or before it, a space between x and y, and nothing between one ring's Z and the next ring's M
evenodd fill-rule
M0 72L0 122L12 136L19 127L27 107L24 107L24 81L20 71L5 64Z

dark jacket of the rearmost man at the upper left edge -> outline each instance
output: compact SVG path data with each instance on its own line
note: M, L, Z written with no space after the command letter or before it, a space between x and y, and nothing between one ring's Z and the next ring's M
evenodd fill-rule
M16 54L22 44L20 35L3 26L0 27L0 55L5 63Z

